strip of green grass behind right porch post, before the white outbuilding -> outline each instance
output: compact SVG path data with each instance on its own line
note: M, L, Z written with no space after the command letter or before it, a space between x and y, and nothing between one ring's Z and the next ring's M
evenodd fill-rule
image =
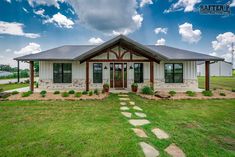
M199 88L205 88L205 77L198 77ZM231 90L235 88L235 76L223 77L223 76L211 76L210 88L222 88Z

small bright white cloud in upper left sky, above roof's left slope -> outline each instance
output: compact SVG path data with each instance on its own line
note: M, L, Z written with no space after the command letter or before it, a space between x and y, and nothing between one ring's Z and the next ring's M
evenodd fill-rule
M74 22L61 13L53 15L52 18L44 20L44 23L54 23L61 28L73 28Z

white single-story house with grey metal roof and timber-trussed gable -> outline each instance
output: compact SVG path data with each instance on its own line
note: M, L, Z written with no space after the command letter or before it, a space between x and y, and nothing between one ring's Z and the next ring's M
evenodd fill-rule
M169 46L142 45L119 35L101 45L65 45L37 54L17 57L30 63L30 89L34 86L34 61L39 61L41 89L131 89L148 85L154 90L197 90L197 61L206 64L209 90L209 63L223 58Z

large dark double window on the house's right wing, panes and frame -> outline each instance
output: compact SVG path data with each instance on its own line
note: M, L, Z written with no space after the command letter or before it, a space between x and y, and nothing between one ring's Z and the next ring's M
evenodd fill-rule
M165 83L183 83L183 64L165 64Z

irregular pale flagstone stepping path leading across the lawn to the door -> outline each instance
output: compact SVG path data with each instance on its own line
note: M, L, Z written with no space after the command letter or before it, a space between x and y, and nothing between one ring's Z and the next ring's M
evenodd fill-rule
M120 102L121 114L125 116L126 118L131 118L132 114L135 114L139 118L139 119L128 120L131 125L133 125L134 127L138 127L138 128L132 128L136 136L140 138L147 138L148 136L145 133L146 130L144 131L143 129L139 128L143 125L150 124L149 120L143 119L147 117L147 115L143 113L143 109L140 108L139 106L135 106L135 102L130 101L130 98L128 97L128 95L119 94L118 96L119 96L119 100L121 101ZM128 107L128 105L131 105L133 107L130 109L129 108L130 106ZM168 139L170 137L165 131L159 128L154 128L151 131L157 137L157 140ZM160 155L159 151L156 148L154 148L152 145L146 142L140 142L139 145L141 149L143 150L145 157L157 157ZM165 148L164 151L172 157L186 157L184 152L179 147L177 147L174 143L169 145L167 148Z

